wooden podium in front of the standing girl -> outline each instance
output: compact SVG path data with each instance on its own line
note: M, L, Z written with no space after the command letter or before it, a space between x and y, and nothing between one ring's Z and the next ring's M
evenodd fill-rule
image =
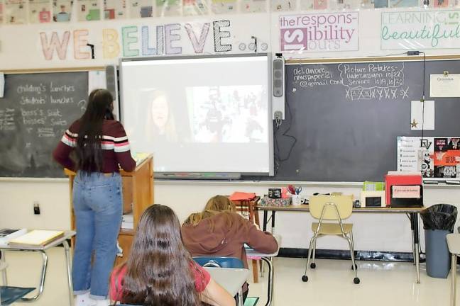
M75 230L75 215L72 205L72 189L75 179L75 172L65 169L65 174L69 176L70 187L70 210L71 226ZM153 204L153 157L149 155L141 163L136 165L132 172L120 170L123 181L123 213L133 212L134 229L120 229L119 244L123 249L123 257L116 257L115 264L118 265L126 261L131 251L133 236L136 232L139 218L142 212Z

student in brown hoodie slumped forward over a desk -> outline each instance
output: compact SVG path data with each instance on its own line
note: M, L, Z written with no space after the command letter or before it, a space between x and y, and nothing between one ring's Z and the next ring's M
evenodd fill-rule
M278 242L251 221L236 212L233 202L225 196L210 198L203 212L190 215L182 225L182 241L192 256L230 256L243 261L248 268L244 244L261 253L273 253ZM248 284L243 285L243 300Z

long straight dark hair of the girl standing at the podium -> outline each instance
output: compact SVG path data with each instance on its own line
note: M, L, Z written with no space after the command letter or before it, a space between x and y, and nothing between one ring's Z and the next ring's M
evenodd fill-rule
M80 118L78 131L77 168L85 172L102 172L102 123L114 119L112 113L114 98L106 89L94 89L89 94L87 109Z

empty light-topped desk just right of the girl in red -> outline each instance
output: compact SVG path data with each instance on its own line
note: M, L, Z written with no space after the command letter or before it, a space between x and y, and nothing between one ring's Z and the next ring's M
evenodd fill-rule
M227 290L231 296L239 293L239 305L243 306L242 286L246 282L249 275L249 270L244 268L210 268L205 269L211 274L211 277Z

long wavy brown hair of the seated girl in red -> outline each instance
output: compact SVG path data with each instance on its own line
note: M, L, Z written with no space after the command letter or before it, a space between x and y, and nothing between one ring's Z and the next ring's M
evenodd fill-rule
M150 206L143 212L131 246L121 302L201 305L191 265L192 257L182 244L175 213L168 206Z

